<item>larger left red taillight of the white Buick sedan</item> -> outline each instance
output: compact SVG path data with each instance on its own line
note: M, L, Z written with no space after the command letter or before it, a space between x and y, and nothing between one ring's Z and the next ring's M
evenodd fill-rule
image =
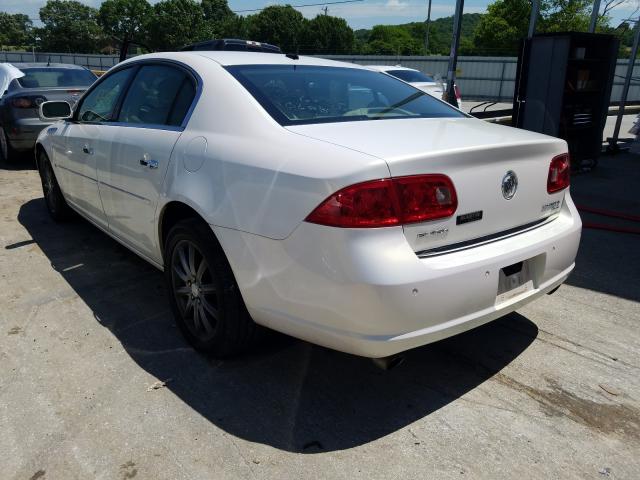
M322 202L306 221L343 228L389 227L450 217L457 207L449 177L413 175L343 188Z

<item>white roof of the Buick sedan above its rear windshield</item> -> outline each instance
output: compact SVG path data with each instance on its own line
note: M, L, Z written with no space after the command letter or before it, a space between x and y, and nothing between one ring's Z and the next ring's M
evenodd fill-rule
M263 52L233 52L233 51L205 51L194 50L184 52L162 52L162 53L150 53L147 55L139 55L130 58L126 61L135 62L138 60L153 60L153 59L167 59L174 61L182 61L189 63L190 59L195 57L209 58L220 65L232 66L232 65L308 65L308 66L326 66L326 67L351 67L357 69L365 69L361 65L355 63L336 62L334 60L327 60L317 57L306 57L295 55L287 56L285 54L277 53L263 53ZM123 62L124 63L124 62Z

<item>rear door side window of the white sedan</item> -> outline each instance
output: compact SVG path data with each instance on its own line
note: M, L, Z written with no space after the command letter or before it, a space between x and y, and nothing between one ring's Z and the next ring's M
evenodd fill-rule
M182 70L166 65L144 66L131 83L118 121L178 126L194 94L193 82Z

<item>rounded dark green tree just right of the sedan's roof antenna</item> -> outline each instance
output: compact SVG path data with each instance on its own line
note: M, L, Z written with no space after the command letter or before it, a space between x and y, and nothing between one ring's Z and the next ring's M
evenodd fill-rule
M352 53L353 30L344 18L318 15L305 23L302 43L303 53Z

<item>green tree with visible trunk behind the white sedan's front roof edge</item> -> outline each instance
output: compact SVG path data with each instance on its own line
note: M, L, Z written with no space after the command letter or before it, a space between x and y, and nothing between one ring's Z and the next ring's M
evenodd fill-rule
M120 44L120 60L132 42L145 43L144 25L150 13L147 0L105 0L100 5L98 24Z

